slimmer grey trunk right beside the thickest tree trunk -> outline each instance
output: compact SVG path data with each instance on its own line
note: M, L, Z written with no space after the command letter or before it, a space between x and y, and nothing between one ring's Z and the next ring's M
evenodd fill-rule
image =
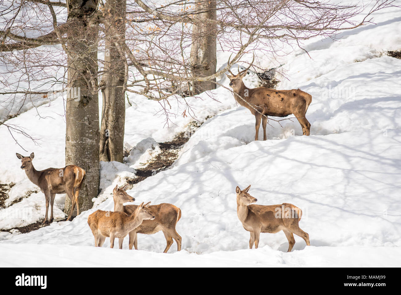
M114 36L114 30L106 28L105 65L100 86L103 95L103 108L100 126L100 160L123 162L124 150L124 58L116 48L117 37L125 40L126 0L108 0L105 10L110 12L110 22L117 28L119 36Z

